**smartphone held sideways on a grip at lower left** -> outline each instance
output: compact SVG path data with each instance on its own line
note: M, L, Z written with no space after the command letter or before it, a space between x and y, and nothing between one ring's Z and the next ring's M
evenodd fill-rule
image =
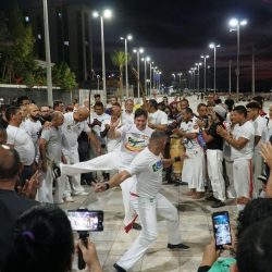
M76 232L102 232L103 211L70 210L67 218L73 231Z

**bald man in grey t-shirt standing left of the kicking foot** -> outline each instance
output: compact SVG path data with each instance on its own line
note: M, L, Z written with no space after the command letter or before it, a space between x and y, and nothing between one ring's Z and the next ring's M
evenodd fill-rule
M41 170L45 173L45 181L39 189L39 200L49 203L62 203L65 180L63 176L57 177L54 198L53 170L60 162L65 162L62 154L62 133L61 126L64 123L64 115L60 111L52 113L50 128L44 129L39 140Z

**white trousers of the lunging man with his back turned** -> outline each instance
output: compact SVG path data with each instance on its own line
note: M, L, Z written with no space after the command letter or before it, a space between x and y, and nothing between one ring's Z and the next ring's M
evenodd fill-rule
M127 270L139 260L148 247L157 239L157 213L168 220L169 243L182 243L180 221L176 208L161 194L156 198L138 197L132 202L141 222L141 232L129 249L121 257L118 264Z

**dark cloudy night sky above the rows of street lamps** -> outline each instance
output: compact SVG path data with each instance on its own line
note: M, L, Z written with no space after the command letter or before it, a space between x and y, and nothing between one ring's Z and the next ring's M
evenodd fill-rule
M251 89L251 52L256 52L256 89L272 89L272 0L194 0L194 1L91 1L94 9L111 8L114 16L104 22L106 50L122 49L119 37L131 33L134 47L145 48L162 70L163 82L171 84L172 73L186 73L200 54L213 51L210 41L219 42L218 87L228 87L228 61L233 61L235 89L236 33L227 22L237 16L249 24L240 29L240 89ZM100 24L94 22L95 69L100 65ZM134 58L134 64L136 60ZM212 66L213 57L209 64ZM108 64L111 67L110 63ZM143 67L141 67L143 70ZM202 72L200 72L202 73ZM200 75L201 76L201 75ZM212 77L212 70L210 72ZM211 78L212 83L212 78Z

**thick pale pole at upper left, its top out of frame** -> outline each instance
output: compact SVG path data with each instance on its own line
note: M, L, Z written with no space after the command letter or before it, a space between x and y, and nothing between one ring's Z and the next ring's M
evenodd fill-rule
M53 106L52 71L51 71L51 54L50 54L47 0L42 0L42 4L44 4L44 21L45 21L46 60L47 60L47 102L49 106Z

